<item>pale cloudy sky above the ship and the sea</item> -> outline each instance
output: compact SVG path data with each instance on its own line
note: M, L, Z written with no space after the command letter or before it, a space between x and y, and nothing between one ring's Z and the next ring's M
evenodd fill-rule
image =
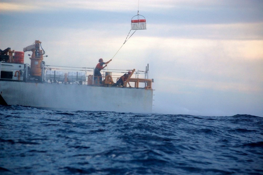
M147 29L122 46L138 10ZM153 113L263 117L261 0L1 0L0 49L35 40L47 65L73 67L122 46L108 69L149 64Z

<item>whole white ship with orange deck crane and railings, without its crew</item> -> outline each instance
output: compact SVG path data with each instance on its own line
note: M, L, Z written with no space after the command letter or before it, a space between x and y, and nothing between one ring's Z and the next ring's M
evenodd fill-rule
M32 52L28 54L30 64L24 63L25 52ZM0 49L0 105L58 111L152 113L154 89L149 65L145 71L104 70L100 81L94 78L94 68L46 65L44 54L39 40L23 48L23 52L10 47ZM131 74L123 86L116 84L118 76L125 71ZM128 82L133 87L127 86Z

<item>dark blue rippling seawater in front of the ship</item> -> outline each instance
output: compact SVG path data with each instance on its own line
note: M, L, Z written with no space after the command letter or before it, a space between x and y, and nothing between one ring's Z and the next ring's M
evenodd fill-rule
M263 118L0 106L0 174L263 174Z

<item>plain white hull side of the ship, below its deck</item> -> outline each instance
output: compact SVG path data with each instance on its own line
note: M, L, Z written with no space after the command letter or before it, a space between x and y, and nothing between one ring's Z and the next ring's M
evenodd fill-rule
M8 105L62 111L151 113L153 104L153 89L144 88L0 81L0 93Z

